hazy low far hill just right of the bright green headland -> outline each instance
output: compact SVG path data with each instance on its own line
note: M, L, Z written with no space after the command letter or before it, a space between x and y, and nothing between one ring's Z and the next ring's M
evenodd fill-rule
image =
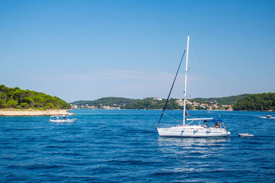
M104 98L97 99L97 100L94 100L94 101L84 101L84 100L74 101L71 104L80 105L80 106L85 106L86 104L88 104L89 106L96 106L96 107L100 107L100 106L123 106L123 105L128 104L128 103L134 103L137 100L138 99L126 99L126 98L123 98L123 97L104 97Z

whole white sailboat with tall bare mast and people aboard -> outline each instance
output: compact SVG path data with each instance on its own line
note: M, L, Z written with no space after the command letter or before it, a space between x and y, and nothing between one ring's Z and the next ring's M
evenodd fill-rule
M182 125L176 125L173 127L159 127L159 122L164 115L164 111L166 108L166 104L170 97L170 93L173 89L175 84L175 80L177 78L177 73L179 72L179 68L181 66L181 62L184 58L184 54L181 58L181 62L177 69L177 73L175 75L175 79L173 85L170 89L170 93L166 100L166 104L164 109L162 110L162 115L156 125L157 132L159 136L166 136L166 137L212 137L212 136L228 136L230 132L226 130L225 125L221 119L214 119L214 118L194 118L188 115L186 111L186 86L187 86L187 71L188 71L188 51L189 51L189 38L187 36L187 47L184 50L184 54L186 53L186 68L185 68L185 82L184 82L184 112L183 112L183 121ZM167 115L166 115L167 116ZM173 118L172 118L173 119ZM214 126L210 127L208 124L214 123Z

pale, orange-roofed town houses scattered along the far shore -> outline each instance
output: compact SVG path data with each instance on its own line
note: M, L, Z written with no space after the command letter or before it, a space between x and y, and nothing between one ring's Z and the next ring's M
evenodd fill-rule
M152 98L144 98L144 101L150 100L152 103L156 103L157 101L166 101L166 99L162 99L159 97L152 97ZM184 106L184 100L183 99L176 99L177 106ZM122 109L122 106L118 104L113 104L111 106L104 105L103 103L100 103L98 106L92 106L89 104L82 104L82 105L76 105L71 104L73 109L105 109L105 110L119 110ZM196 99L187 99L186 100L186 107L188 110L233 110L232 105L223 105L221 103L218 103L218 101L199 101ZM161 109L161 108L155 108L155 109Z

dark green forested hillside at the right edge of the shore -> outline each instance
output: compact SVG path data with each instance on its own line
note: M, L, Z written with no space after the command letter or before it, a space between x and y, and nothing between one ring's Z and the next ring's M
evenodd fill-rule
M234 110L275 110L275 93L252 94L239 99L233 106Z

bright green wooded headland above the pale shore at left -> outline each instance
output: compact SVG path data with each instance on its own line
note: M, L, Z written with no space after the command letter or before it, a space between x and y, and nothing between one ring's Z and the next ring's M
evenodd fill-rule
M0 108L69 109L71 106L58 97L18 87L0 85Z

